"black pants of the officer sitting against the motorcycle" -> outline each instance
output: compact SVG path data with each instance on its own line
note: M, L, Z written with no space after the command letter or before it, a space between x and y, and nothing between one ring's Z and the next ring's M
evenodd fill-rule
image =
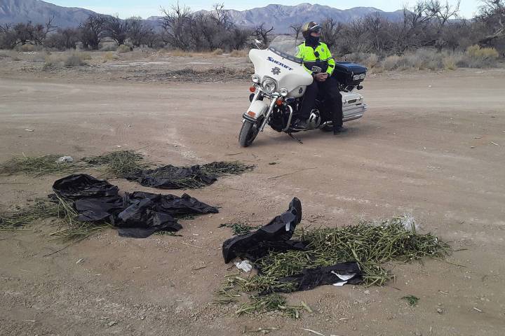
M299 118L302 120L309 119L319 94L324 94L325 108L328 109L332 115L333 125L342 126L342 94L340 94L338 81L332 77L326 78L324 82L318 82L314 79L314 82L307 86L302 101L302 107L298 113Z

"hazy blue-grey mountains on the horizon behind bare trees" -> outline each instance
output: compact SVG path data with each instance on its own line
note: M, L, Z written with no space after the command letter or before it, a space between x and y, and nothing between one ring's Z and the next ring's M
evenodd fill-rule
M210 13L202 10L204 13ZM91 10L56 6L41 0L0 0L0 24L32 21L43 23L54 16L53 24L58 27L76 27L86 20ZM289 26L307 21L321 22L325 18L333 18L337 22L349 22L365 15L379 13L390 20L399 20L402 10L384 12L373 7L356 7L346 10L318 4L300 3L296 6L268 5L262 8L248 10L228 10L231 20L238 26L255 27L262 23L265 27L274 27L276 32L290 31ZM155 21L156 16L147 18Z

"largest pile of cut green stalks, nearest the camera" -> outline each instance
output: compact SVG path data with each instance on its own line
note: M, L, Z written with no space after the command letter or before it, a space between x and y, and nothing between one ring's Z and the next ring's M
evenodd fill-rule
M254 293L251 296L253 301L245 306L248 309L241 309L237 314L261 312L271 306L251 308L257 307L255 297L296 290L295 284L278 279L299 274L302 269L354 261L363 271L364 286L382 286L394 277L385 268L385 263L443 258L450 252L450 246L434 235L417 233L411 218L406 217L391 218L379 224L362 221L344 228L297 230L295 236L308 243L307 251L269 253L254 262L260 269L258 274L248 278L228 276L224 287L217 293L218 300L233 302L242 292Z

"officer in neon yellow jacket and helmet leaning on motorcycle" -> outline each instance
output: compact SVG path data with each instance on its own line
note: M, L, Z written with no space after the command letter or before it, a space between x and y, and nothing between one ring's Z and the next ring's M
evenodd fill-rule
M302 35L305 42L297 47L297 57L303 59L304 67L312 74L314 81L307 86L295 126L307 129L307 121L314 109L316 97L319 92L322 92L332 113L333 132L345 132L346 128L342 126L342 94L340 94L338 81L331 77L335 69L335 59L328 46L319 41L321 26L316 22L307 22L302 26ZM320 67L321 72L314 73L312 66Z

